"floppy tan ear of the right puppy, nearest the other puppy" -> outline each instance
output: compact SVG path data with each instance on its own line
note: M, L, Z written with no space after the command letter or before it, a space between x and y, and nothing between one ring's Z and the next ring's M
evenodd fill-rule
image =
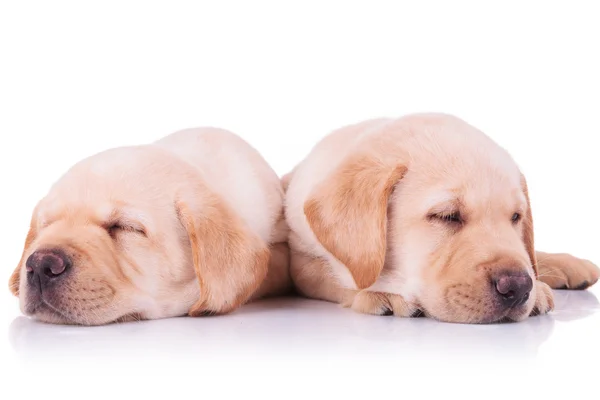
M375 283L383 269L388 198L405 172L400 163L357 154L316 187L304 204L317 239L348 268L358 289Z

